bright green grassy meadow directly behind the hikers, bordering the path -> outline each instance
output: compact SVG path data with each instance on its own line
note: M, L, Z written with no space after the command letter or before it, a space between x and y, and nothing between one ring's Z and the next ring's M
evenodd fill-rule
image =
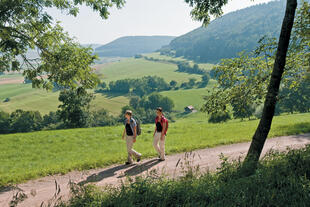
M190 124L189 124L190 123ZM209 124L196 113L169 126L168 154L251 139L258 120ZM155 156L153 125L143 125L135 149L143 157ZM310 132L310 113L274 118L269 137ZM0 186L25 180L124 162L126 144L122 127L100 127L0 135Z

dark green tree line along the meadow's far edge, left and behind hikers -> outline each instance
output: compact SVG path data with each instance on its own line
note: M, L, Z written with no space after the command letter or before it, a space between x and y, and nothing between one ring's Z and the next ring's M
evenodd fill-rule
M123 122L124 108L118 117L109 115L105 109L90 111L89 106L93 99L94 96L83 89L65 90L61 91L59 95L59 101L62 102L59 109L46 115L42 115L39 111L21 109L12 113L1 111L0 134L114 126ZM153 93L142 98L132 97L130 106L125 108L133 109L143 123L152 123L155 116L154 109L158 106L162 106L169 113L172 111L174 103L168 97Z

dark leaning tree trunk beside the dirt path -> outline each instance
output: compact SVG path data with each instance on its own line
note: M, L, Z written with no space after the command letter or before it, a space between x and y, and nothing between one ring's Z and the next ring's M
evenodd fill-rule
M247 164L251 163L251 166L254 167L250 169L253 170L255 169L261 155L274 116L280 82L286 61L286 54L294 23L296 7L297 0L287 0L285 16L282 22L281 34L278 42L276 59L268 86L262 118L253 136L250 149L244 162L244 166L247 166ZM250 173L252 172L253 171L251 170Z

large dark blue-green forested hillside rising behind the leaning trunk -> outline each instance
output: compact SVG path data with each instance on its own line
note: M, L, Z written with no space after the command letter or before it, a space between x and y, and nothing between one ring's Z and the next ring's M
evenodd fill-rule
M285 1L273 1L228 13L172 40L163 52L199 62L218 62L252 50L264 35L278 36L285 12Z

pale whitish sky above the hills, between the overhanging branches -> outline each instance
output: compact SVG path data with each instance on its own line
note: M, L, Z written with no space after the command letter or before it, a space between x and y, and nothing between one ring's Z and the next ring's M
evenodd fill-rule
M226 14L269 1L230 0L223 11ZM110 9L106 20L86 6L80 7L77 17L56 9L48 12L81 44L106 44L123 36L183 35L201 26L191 19L190 11L184 0L127 0L122 9Z

